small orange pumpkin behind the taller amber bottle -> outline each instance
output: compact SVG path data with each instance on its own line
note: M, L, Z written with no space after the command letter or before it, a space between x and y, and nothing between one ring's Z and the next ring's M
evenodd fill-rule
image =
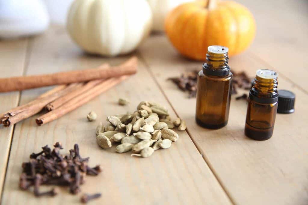
M229 56L241 53L253 41L253 15L233 1L203 0L182 4L165 20L165 31L174 47L184 56L205 60L210 45L229 48Z

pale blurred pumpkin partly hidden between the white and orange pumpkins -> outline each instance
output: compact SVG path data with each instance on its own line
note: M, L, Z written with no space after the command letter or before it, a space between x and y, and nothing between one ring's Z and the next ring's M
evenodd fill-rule
M193 0L148 0L153 14L153 30L164 31L165 18L176 6Z

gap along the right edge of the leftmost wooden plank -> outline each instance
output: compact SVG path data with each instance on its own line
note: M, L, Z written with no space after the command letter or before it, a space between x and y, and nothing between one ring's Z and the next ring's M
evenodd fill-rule
M25 58L23 61L23 66L22 66L22 76L26 75L26 70L28 68L29 62L30 62L30 56L31 56L31 49L32 49L32 44L33 44L33 38L30 39L30 37L26 38L26 52L25 52ZM18 100L17 100L17 106L20 105L20 100L21 100L21 93L22 91L18 92ZM2 203L2 197L3 197L3 193L4 193L4 184L6 182L6 173L7 173L7 168L9 165L9 160L10 160L10 155L11 155L11 149L12 149L12 143L13 143L13 137L14 137L14 131L15 131L15 124L12 125L13 129L12 132L10 134L10 148L8 151L8 156L6 159L6 168L5 168L5 174L4 174L4 179L3 179L3 183L1 185L2 187L2 192L0 194L0 203Z

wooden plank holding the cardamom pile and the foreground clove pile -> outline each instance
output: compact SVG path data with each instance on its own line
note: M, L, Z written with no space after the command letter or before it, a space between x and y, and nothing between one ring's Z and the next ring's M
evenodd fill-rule
M57 34L57 35L56 35ZM128 57L113 59L86 56L69 41L62 28L54 27L34 41L33 57L27 74L55 72L59 69L77 69L97 66L104 62L118 64ZM42 71L41 69L47 69ZM40 89L22 92L25 103L41 93ZM128 98L128 106L117 105L119 97ZM82 156L90 156L90 165L101 164L104 171L97 177L87 177L82 192L102 192L97 204L229 204L230 201L201 154L186 132L170 149L158 150L150 158L117 154L114 148L102 150L96 144L95 127L107 116L134 111L142 100L154 100L172 108L155 85L150 73L140 63L138 73L124 83L95 98L79 109L44 126L38 127L34 117L16 125L10 161L3 192L3 204L73 204L80 195L71 195L66 188L54 198L35 198L28 191L18 189L20 165L33 151L45 144L61 141L68 152L75 143ZM91 110L98 114L94 122L87 122Z

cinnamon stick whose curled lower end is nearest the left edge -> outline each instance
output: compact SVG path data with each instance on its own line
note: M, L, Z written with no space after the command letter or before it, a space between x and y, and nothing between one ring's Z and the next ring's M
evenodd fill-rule
M11 124L15 124L21 120L24 120L36 113L40 112L48 103L54 101L58 97L61 97L67 93L72 92L75 89L78 89L83 84L79 83L78 85L69 85L65 89L60 90L56 93L48 95L46 97L39 97L30 103L14 108L13 112L6 112L2 118L2 124L5 127L10 126Z

